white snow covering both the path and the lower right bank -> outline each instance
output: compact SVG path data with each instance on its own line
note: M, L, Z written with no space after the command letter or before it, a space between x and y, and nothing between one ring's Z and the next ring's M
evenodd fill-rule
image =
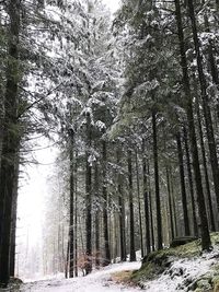
M25 283L20 292L188 292L188 283L210 272L212 266L218 262L218 256L219 250L216 248L212 253L200 257L175 260L159 278L143 282L143 289L115 283L111 277L115 272L139 269L141 264L138 261L114 264L88 277Z

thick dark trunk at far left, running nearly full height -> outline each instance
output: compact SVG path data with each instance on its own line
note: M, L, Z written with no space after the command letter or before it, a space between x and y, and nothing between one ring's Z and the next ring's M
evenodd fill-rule
M2 157L0 172L0 284L7 285L10 278L11 223L14 184L16 182L15 162L20 143L18 121L19 82L19 32L20 0L10 0L8 13L9 51L4 98L4 124L2 135Z

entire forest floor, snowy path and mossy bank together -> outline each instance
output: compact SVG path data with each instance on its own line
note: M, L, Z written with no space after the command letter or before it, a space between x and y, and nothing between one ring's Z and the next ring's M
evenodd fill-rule
M200 241L151 253L145 262L114 264L87 277L28 282L0 292L219 292L219 233L212 252Z

